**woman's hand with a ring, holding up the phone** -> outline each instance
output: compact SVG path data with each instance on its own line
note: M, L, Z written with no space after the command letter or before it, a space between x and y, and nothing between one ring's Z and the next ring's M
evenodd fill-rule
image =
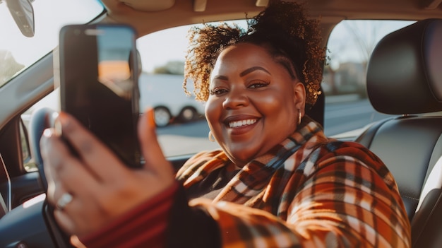
M88 235L172 186L174 171L157 142L153 110L143 114L138 123L145 158L141 170L126 167L68 114L62 112L57 124L78 157L71 153L58 129L45 130L40 146L48 181L47 199L54 206L57 202L64 205L60 204L62 196L66 200L66 205L54 211L66 232Z

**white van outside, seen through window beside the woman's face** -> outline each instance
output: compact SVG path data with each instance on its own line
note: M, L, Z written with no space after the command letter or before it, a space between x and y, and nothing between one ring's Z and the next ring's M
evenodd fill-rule
M138 79L140 110L153 107L157 126L167 126L174 120L189 122L204 114L203 102L184 93L183 75L142 73ZM188 90L193 91L192 83Z

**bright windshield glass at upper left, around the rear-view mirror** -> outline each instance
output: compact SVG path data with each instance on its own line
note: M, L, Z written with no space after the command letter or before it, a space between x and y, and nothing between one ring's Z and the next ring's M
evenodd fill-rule
M66 24L88 23L103 11L97 0L34 0L35 35L25 37L0 0L0 87L59 42L59 30Z

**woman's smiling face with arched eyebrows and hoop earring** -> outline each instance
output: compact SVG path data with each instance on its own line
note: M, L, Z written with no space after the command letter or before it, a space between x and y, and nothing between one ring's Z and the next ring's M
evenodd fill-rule
M258 45L240 43L217 58L205 116L230 160L243 166L292 134L304 115L304 85Z

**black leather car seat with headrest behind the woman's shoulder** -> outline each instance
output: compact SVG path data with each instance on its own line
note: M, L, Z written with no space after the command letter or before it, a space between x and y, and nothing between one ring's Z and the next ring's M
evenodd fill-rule
M395 177L412 223L412 247L442 247L442 19L386 35L374 49L367 91L378 112L357 142Z

